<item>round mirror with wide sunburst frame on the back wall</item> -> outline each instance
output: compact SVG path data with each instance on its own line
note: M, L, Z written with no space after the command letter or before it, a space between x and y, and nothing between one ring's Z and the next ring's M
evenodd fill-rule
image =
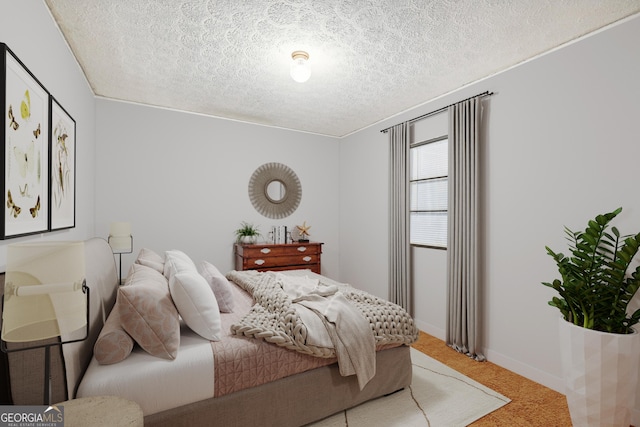
M282 163L265 163L249 180L249 199L267 218L285 218L298 208L302 187L296 173Z

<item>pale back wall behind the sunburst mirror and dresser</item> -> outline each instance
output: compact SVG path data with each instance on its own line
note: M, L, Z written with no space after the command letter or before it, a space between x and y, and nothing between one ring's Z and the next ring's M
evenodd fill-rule
M132 224L134 253L180 249L194 261L233 268L234 230L241 221L294 227L306 221L324 242L322 271L338 273L338 144L335 138L250 125L160 108L97 100L96 224ZM248 195L253 171L268 162L293 169L302 200L289 217L259 214Z

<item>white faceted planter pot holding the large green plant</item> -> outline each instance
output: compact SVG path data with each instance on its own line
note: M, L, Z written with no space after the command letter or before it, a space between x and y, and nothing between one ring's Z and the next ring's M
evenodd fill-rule
M631 423L640 364L640 334L610 334L560 318L565 394L574 426Z

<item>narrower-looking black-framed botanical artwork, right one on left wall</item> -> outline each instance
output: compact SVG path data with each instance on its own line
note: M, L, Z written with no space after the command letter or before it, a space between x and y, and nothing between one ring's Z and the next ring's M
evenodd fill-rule
M76 122L51 96L49 229L76 225Z

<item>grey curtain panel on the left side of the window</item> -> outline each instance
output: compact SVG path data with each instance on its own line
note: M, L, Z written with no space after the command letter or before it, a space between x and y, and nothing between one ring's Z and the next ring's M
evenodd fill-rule
M413 313L409 238L409 125L389 129L389 300Z

